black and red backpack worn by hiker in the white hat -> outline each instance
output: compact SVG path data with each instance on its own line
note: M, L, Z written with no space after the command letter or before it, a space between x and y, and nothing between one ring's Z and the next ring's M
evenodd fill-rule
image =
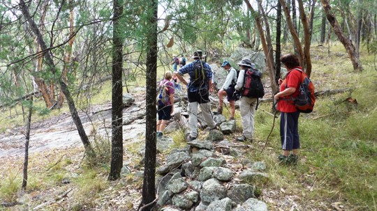
M253 68L245 70L244 86L242 86L242 96L259 98L265 95L262 84L262 73Z

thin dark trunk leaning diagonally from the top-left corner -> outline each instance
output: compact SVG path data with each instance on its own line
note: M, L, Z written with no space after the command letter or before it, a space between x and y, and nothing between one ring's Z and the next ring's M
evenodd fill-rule
M20 0L20 8L22 10L22 15L24 15L25 19L30 24L30 28L31 28L31 30L33 31L33 33L35 34L35 36L38 40L38 43L40 45L40 49L43 52L43 56L45 57L47 65L50 66L50 70L52 72L52 75L55 75L55 73L56 73L55 67L56 66L54 64L54 61L52 60L52 56L50 55L50 50L47 49L47 46L45 44L45 40L43 40L42 34L40 33L40 31L39 31L39 29L36 25L36 22L34 22L34 19L31 18L31 15L29 13L29 8L26 5L24 0ZM57 77L57 78L60 78L60 77ZM75 102L73 101L73 98L71 96L71 92L68 90L68 87L66 86L64 81L62 81L61 79L59 79L59 84L61 86L60 87L61 91L63 91L64 95L66 95L66 98L67 98L67 101L68 101L68 107L69 107L69 110L71 111L71 116L73 118L73 122L76 125L77 132L80 135L82 143L84 144L84 148L85 148L85 150L87 150L89 155L94 155L94 152L91 148L91 144L90 144L89 139L88 139L88 136L85 133L84 127L82 126L80 116L78 116L78 114L77 114L77 109L75 107Z

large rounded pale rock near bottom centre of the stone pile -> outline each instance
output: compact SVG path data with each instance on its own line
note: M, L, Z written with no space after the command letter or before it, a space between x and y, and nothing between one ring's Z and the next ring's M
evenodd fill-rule
M200 198L202 198L202 201L205 203L211 203L212 201L226 198L226 187L221 185L219 180L209 179L202 185Z

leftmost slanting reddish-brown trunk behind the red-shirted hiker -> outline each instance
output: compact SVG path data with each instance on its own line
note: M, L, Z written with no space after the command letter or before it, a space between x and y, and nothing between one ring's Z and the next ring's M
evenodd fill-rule
M271 60L271 57L269 56L269 49L267 47L265 33L263 33L263 26L260 21L260 17L256 14L256 11L251 6L249 0L244 0L244 2L246 3L247 8L249 8L251 15L253 15L253 18L256 20L256 26L260 34L260 42L262 42L263 52L265 52L265 57L267 60L267 72L269 75L269 81L271 81L272 92L275 93L276 91L278 91L278 86L276 84L275 75L274 75L274 61Z

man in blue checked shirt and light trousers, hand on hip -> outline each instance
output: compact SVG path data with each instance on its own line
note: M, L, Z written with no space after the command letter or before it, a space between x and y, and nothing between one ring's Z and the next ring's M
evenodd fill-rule
M177 78L187 86L188 123L191 130L190 134L186 136L187 141L195 140L198 137L198 105L209 130L216 129L216 123L209 107L209 92L213 92L211 67L202 61L203 54L200 50L195 51L192 58L194 59L192 63L184 65L175 72ZM190 76L189 82L183 78L185 74Z

